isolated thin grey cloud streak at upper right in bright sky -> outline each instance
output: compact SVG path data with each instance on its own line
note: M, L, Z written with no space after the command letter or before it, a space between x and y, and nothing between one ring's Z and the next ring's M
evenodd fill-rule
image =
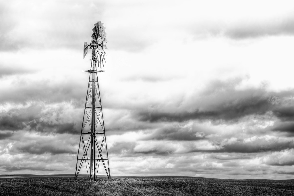
M282 15L282 16L281 16ZM189 29L196 38L224 36L234 40L257 39L265 36L294 35L294 15L283 13L271 14L266 18L256 16L255 19L240 18L238 20L209 20L206 23L196 22Z

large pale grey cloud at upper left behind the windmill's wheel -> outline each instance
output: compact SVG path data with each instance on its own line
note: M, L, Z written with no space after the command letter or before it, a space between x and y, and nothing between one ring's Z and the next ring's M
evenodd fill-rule
M14 6L15 4L18 6ZM117 9L113 9L113 6L106 2L76 0L71 4L68 4L67 1L27 4L13 1L13 3L2 5L4 11L1 12L2 17L0 17L4 22L0 25L0 41L2 43L0 51L17 51L28 48L81 50L83 41L88 43L91 41L92 29L96 20L103 18L102 22L107 22L104 25L107 37L111 38L111 42L107 46L112 50L141 52L155 41L154 37L151 41L148 36L150 30L145 33L141 28L126 28L128 21L112 20L113 17L105 19L106 9L115 13L122 10L125 12L128 9L128 4L121 4ZM134 9L139 8L133 8L129 11L134 12ZM13 13L18 13L21 17L17 18ZM93 19L95 20L93 21ZM111 28L111 26L115 28ZM145 27L143 24L141 26Z

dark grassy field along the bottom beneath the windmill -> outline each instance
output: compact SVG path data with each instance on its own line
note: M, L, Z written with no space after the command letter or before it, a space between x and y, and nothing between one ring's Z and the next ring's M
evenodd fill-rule
M294 180L11 178L0 195L294 195Z

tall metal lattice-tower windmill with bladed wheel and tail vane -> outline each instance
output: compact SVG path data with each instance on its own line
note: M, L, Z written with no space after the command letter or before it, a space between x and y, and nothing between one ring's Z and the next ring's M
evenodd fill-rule
M103 23L100 21L94 24L92 29L92 40L90 44L84 42L84 58L89 49L92 50L92 59L89 73L88 90L84 109L83 123L81 128L81 137L78 147L78 157L76 160L75 179L78 177L83 165L90 179L95 180L98 176L98 170L105 170L108 179L110 179L108 152L105 137L105 128L103 121L103 112L98 83L98 73L104 67L106 47L106 33ZM100 68L100 69L97 69ZM99 171L100 171L99 170ZM85 172L85 170L84 170ZM102 174L105 174L104 172Z

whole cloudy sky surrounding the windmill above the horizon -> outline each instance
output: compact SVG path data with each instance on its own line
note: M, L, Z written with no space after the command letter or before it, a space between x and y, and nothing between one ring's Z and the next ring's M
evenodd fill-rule
M294 179L293 1L0 0L0 174L73 174L96 21L111 175Z

